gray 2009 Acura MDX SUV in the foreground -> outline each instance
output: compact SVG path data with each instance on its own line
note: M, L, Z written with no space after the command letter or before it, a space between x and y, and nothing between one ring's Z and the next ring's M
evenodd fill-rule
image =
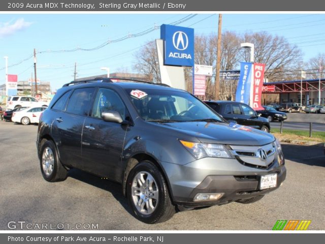
M161 84L101 78L64 85L41 115L37 148L46 180L78 168L117 181L145 223L176 210L252 203L286 176L272 134L228 123Z

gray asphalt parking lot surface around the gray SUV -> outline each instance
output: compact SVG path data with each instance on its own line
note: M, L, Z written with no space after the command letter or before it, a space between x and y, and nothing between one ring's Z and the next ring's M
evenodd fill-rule
M178 212L147 225L131 214L121 186L73 169L67 180L43 179L36 153L37 126L0 121L0 229L10 221L93 223L100 230L271 230L277 220L311 220L324 230L325 156L317 146L283 144L287 178L252 204L230 203ZM66 228L64 228L66 229Z

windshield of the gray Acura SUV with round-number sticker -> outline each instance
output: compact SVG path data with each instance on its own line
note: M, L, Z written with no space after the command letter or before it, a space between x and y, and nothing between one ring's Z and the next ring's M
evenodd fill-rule
M223 119L188 93L159 89L126 89L139 115L146 121L185 122Z

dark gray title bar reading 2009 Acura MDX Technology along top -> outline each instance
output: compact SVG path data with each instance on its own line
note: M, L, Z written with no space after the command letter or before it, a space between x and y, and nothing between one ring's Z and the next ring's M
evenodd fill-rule
M283 0L7 0L0 11L324 11L325 2Z

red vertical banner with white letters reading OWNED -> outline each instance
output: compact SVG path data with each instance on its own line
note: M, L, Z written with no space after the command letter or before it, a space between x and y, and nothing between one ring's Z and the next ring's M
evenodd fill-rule
M250 100L250 105L254 110L264 110L261 105L264 70L265 64L255 63L253 66L253 83L251 84L253 86L253 92Z

